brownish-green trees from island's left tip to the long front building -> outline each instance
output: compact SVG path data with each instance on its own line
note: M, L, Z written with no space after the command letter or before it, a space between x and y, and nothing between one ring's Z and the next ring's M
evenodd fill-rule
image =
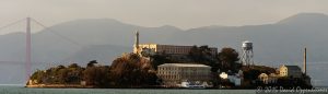
M85 85L94 87L137 87L160 83L150 62L133 54L117 58L110 67L96 63L93 60L86 68L72 63L37 70L31 80L36 80L37 84L81 84L85 81Z

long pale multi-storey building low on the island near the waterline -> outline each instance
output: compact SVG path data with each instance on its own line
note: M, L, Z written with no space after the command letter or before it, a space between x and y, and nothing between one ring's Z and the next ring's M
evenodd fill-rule
M165 86L180 86L181 82L209 83L211 67L194 63L164 63L159 66L157 77Z

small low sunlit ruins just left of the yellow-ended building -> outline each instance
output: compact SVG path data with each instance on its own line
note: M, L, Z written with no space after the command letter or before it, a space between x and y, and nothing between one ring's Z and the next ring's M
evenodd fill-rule
M278 75L274 73L270 73L269 75L267 73L261 73L258 75L258 79L263 82L265 84L274 84L278 81Z

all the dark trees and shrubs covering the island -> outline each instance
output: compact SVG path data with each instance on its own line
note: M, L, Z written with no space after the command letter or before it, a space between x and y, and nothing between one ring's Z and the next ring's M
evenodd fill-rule
M303 79L282 78L278 84L262 84L258 82L260 73L274 73L276 69L265 66L242 66L238 52L233 48L222 48L218 54L211 54L208 46L194 46L187 56L172 58L165 52L140 57L137 54L126 54L115 59L112 66L101 66L95 60L90 61L85 68L71 63L68 67L58 66L47 70L37 70L31 77L33 84L81 84L93 87L157 87L161 79L156 75L157 66L163 63L201 63L212 69L212 83L214 87L220 85L234 86L229 80L221 80L220 72L229 74L243 71L242 86L254 89L261 85L280 85L309 87L305 85L309 77ZM220 71L220 72L219 72ZM256 82L257 81L257 82ZM83 82L83 83L82 83ZM27 84L28 85L28 84Z

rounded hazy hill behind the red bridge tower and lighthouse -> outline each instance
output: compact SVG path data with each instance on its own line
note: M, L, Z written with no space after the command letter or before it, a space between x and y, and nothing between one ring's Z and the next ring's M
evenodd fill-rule
M78 51L82 48L93 45L108 45L116 46L118 49L112 49L107 47L107 50L121 50L130 52L133 45L133 33L134 31L142 31L141 40L149 40L151 43L163 43L167 42L166 37L172 35L174 32L180 32L180 30L174 26L161 26L161 27L142 27L137 25L125 24L116 20L110 19L96 19L96 20L78 20L61 23L43 30L32 35L32 56L35 62L51 62L51 61L63 61L69 57L74 57ZM55 34L51 32L56 32ZM60 34L71 39L67 40L56 34ZM149 37L148 37L149 36ZM156 39L154 39L156 38ZM23 61L25 58L25 34L13 33L8 35L0 35L0 60L1 61ZM117 47L121 46L121 47ZM99 50L98 48L90 48L92 50ZM87 50L89 52L94 52ZM121 51L112 51L112 55L120 55ZM80 55L83 56L83 55ZM87 56L87 55L84 55ZM108 56L103 56L108 57ZM75 57L90 58L90 57ZM109 59L103 59L99 61L112 62ZM81 61L81 60L78 60Z

